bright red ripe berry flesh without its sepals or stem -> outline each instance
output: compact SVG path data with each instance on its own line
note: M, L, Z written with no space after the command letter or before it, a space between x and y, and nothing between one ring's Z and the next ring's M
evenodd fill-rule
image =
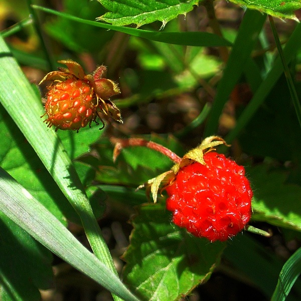
M244 229L251 217L252 190L244 168L224 155L209 152L205 165L179 170L166 187L173 222L210 241L225 241Z

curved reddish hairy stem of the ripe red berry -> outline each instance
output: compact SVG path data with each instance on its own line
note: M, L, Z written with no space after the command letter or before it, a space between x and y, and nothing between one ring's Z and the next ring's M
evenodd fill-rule
M128 146L145 146L150 149L154 149L157 152L163 154L164 156L171 159L176 164L181 163L182 158L180 158L177 154L172 152L169 148L158 144L153 141L148 141L142 138L128 138L128 139L118 139L118 138L111 138L111 142L115 144L113 150L113 160L116 161L117 157L119 156L122 148Z

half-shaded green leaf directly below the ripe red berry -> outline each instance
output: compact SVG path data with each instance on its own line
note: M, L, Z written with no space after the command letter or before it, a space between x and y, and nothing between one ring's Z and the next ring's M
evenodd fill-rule
M160 204L141 206L133 219L123 279L142 300L178 300L206 282L225 244L194 237L170 222Z

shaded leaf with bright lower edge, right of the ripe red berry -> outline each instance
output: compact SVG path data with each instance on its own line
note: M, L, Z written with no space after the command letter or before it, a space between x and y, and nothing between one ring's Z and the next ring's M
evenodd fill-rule
M264 165L246 172L254 188L252 219L301 231L301 187L286 184L285 173L267 171Z

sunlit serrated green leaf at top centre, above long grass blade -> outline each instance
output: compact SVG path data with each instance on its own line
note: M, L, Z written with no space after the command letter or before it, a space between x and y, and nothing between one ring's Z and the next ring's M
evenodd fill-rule
M98 0L109 12L97 18L99 21L112 23L116 26L136 24L138 27L144 24L161 21L163 27L167 22L177 18L178 15L186 15L198 5L198 0Z

